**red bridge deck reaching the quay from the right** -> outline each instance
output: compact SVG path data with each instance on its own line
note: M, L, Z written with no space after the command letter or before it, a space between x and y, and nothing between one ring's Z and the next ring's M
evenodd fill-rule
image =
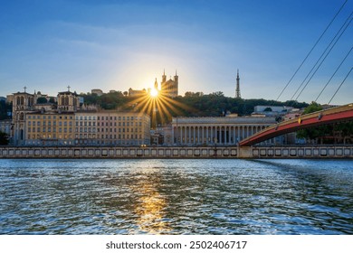
M353 104L341 106L337 108L329 108L318 112L296 117L283 121L279 124L269 126L253 136L243 139L239 143L240 146L249 146L261 143L275 136L281 136L287 133L295 132L300 129L313 126L328 125L330 123L347 121L353 119Z

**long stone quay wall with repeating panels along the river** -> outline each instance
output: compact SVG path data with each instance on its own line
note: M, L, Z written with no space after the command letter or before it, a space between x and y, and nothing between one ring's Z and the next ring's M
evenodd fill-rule
M0 158L353 158L345 146L2 146Z

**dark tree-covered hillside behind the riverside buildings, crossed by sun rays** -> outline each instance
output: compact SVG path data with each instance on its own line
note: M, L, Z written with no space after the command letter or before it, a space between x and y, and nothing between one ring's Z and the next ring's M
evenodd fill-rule
M157 114L157 122L168 123L172 117L219 117L227 111L239 116L251 115L255 106L288 106L306 108L307 103L296 101L279 102L266 99L241 99L224 97L223 92L217 91L208 95L202 92L186 92L185 96L167 98L159 96L153 102L148 95L146 98L125 96L122 92L103 94L102 96L81 95L85 104L95 104L103 109L118 109L121 111L144 111L150 116ZM153 103L156 106L153 106ZM155 110L157 107L157 110Z

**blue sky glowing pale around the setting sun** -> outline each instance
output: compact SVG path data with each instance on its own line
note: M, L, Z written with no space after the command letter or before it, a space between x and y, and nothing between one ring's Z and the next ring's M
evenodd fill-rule
M0 96L143 89L179 75L179 95L276 99L345 0L13 0L0 8ZM353 10L348 0L280 100L290 99ZM352 24L299 101L314 100L353 44ZM318 100L352 67L348 55ZM334 104L352 102L351 74Z

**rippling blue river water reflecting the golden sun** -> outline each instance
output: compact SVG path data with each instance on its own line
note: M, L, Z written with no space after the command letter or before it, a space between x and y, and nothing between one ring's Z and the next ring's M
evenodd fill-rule
M353 234L353 161L0 160L0 234Z

